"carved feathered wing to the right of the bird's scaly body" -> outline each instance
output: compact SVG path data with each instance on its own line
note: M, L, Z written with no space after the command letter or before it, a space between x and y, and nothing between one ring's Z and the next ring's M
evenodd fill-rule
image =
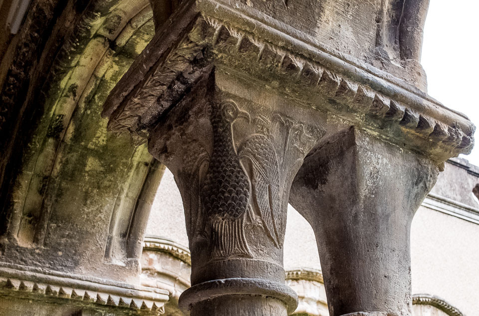
M253 209L257 209L266 233L279 247L281 225L281 191L276 152L264 135L253 135L240 147L241 160L251 163Z

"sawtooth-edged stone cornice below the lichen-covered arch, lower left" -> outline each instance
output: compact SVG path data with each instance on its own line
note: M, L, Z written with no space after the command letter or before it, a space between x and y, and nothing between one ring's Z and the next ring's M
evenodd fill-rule
M130 312L161 314L168 302L168 291L144 286L127 285L97 278L82 280L75 275L31 271L26 267L0 267L0 293L29 299L69 300L78 306L112 306ZM28 271L30 270L30 271ZM94 280L93 280L94 279Z

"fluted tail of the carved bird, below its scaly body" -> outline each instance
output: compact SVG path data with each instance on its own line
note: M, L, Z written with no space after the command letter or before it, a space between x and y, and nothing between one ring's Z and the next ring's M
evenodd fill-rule
M210 260L252 258L244 237L243 217L213 219L210 224Z

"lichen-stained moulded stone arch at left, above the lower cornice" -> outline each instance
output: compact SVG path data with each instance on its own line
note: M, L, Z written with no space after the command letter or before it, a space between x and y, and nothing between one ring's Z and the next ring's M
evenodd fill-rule
M25 42L17 46L32 45L27 35L40 29L38 11L45 12L44 5L28 12L19 34ZM146 219L163 167L146 146L134 148L129 137L107 133L100 112L111 88L153 37L153 13L148 0L64 5L56 8L57 16L48 16L70 24L63 33L46 34L63 37L56 48L42 47L41 58L52 62L37 66L45 67L41 91L28 88L26 96L11 96L12 107L22 109L7 112L9 124L1 128L16 137L5 143L0 170L6 201L0 210L2 261L43 267L47 257L52 269L98 277L108 271L113 279L138 282ZM16 85L4 87L2 99L22 84L12 79L15 62L4 81Z

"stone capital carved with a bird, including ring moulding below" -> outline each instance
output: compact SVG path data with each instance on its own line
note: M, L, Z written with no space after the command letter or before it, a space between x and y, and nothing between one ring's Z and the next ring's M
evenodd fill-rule
M205 74L149 137L185 207L192 288L179 304L192 316L286 316L297 306L282 267L289 188L321 130L229 93L249 84L228 77Z

